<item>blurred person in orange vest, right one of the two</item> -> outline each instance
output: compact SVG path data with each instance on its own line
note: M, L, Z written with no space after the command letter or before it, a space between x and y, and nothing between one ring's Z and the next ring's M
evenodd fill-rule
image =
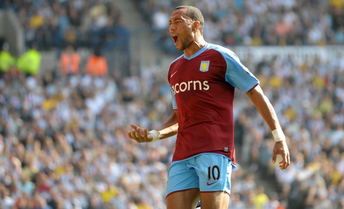
M101 49L97 48L94 54L87 59L85 72L93 76L104 76L107 71L106 58L101 55Z

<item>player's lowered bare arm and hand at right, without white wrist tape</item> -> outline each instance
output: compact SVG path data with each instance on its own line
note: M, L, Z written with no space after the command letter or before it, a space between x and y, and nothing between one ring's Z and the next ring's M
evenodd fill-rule
M273 109L269 99L264 95L259 85L248 91L246 95L255 104L271 131L281 128L275 109ZM286 169L288 165L290 165L289 150L286 140L277 141L275 143L272 153L272 163L276 162L277 154L282 156L282 161L279 162L280 169Z

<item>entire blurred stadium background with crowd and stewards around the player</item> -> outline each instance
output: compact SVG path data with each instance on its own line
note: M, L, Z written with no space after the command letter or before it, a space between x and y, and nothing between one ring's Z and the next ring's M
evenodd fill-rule
M4 0L0 208L166 208L175 137L138 144L126 131L172 112L168 20L181 4L258 77L288 136L281 172L236 91L229 208L344 207L343 0Z

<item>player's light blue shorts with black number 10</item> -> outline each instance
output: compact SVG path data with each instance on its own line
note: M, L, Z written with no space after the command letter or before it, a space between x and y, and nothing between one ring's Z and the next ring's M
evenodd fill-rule
M222 154L201 153L174 161L168 171L166 197L172 193L200 188L200 192L225 191L230 195L232 161Z

